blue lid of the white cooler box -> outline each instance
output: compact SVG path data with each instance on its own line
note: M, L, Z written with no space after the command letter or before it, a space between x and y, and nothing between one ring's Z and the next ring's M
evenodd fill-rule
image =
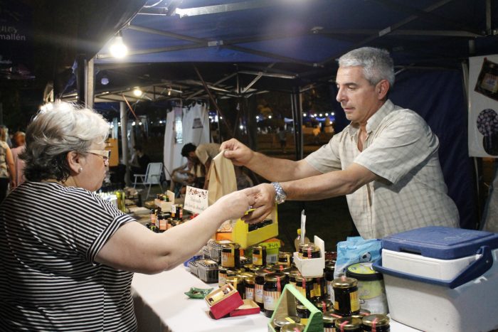
M489 246L491 250L496 249L498 234L482 230L429 226L389 235L382 239L383 249L412 252L437 259L457 259L475 255L482 245Z

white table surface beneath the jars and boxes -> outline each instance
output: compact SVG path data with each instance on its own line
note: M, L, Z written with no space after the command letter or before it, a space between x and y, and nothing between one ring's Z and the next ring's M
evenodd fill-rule
M139 332L264 332L270 318L264 314L213 319L203 299L184 294L190 287L211 288L189 273L183 265L168 272L135 273L132 282L135 315ZM392 332L418 331L391 321Z

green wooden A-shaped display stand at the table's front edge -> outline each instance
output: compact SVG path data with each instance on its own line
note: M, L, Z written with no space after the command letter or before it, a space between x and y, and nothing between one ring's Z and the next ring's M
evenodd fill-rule
M319 311L306 296L302 295L292 284L287 284L278 299L277 309L273 312L270 322L268 322L268 332L276 332L272 326L272 321L276 316L287 315L297 316L296 299L300 301L311 313L303 332L323 332L324 323L322 311Z

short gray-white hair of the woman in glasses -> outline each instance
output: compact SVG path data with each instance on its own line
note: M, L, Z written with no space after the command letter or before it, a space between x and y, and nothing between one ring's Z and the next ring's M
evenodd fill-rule
M24 176L28 181L70 176L66 156L70 151L86 155L92 144L102 144L109 136L109 125L92 109L68 102L48 105L36 114L26 129Z

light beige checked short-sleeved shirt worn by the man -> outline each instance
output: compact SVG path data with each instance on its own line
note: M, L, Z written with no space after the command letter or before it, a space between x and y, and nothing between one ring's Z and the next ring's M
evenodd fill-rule
M458 227L458 210L446 194L439 163L438 137L422 117L388 100L367 121L366 132L363 151L358 149L359 127L351 123L305 159L322 173L356 163L383 178L346 195L360 235L380 238L428 225Z

